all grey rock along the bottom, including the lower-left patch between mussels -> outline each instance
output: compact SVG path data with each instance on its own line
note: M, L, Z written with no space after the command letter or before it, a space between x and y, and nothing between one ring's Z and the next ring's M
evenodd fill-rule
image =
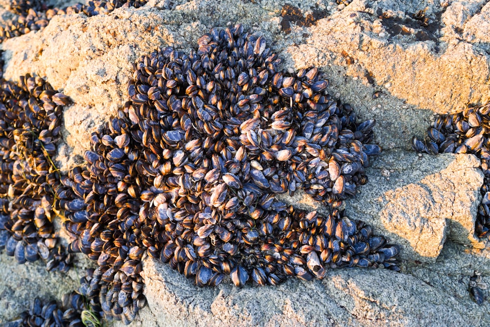
M28 308L32 294L59 299L78 286L75 271L63 277L40 263L17 265L4 254L0 263L0 324ZM488 249L467 251L449 242L436 263L411 264L413 276L337 269L322 281L238 289L229 280L198 288L168 265L147 259L148 306L131 326L486 326L490 304L471 302L467 284L475 270L490 284L489 267Z

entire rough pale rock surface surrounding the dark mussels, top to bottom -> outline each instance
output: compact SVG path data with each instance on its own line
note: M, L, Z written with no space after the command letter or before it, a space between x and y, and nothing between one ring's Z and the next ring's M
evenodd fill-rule
M148 305L132 325L488 326L489 301L478 306L467 291L474 271L490 283L489 249L473 248L485 245L472 230L482 184L478 162L407 150L435 112L490 100L490 3L305 0L295 4L304 22L287 24L281 17L286 3L151 0L109 15L57 16L44 30L0 46L5 78L35 73L73 99L57 158L65 171L81 162L90 133L128 100L139 56L164 46L193 49L209 28L235 23L264 35L285 69L319 67L332 95L361 118L377 120L375 141L385 153L372 161L369 183L347 201L345 214L402 246L402 273L337 269L322 281L243 289L225 281L199 289L147 260ZM413 19L419 10L429 18L426 27ZM12 18L4 10L0 16L0 24ZM308 17L324 18L306 24ZM32 294L59 299L77 285L73 274L47 273L40 263L16 265L2 254L0 324L26 309Z

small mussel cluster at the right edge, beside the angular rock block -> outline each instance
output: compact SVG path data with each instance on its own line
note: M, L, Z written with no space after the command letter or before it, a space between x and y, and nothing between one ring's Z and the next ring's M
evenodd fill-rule
M481 161L485 175L480 189L482 201L478 206L475 233L483 238L490 230L490 103L468 108L460 113L438 115L427 129L424 141L414 137L412 147L417 152L472 153Z

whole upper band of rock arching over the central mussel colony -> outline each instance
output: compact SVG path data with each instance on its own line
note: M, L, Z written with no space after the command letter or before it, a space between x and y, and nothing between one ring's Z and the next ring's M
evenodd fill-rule
M109 15L58 16L43 31L2 45L5 76L36 72L65 89L76 103L65 115L67 142L75 154L88 147L87 131L96 130L127 100L137 57L167 45L189 50L209 27L235 22L270 39L284 68L316 65L326 72L331 94L351 103L360 116L376 118L375 133L385 149L410 148L411 136L423 134L433 111L454 112L466 103L490 100L488 33L477 23L488 5L427 3L431 23L426 28L411 19L424 9L417 1L353 1L341 11L334 3L316 9L330 13L327 18L311 27L292 25L291 34L281 31L282 5L273 1L154 0ZM302 3L304 14L314 4ZM459 17L461 7L466 9ZM380 19L383 12L391 18ZM461 26L473 35L471 43L455 32ZM401 32L403 27L407 32ZM379 97L372 99L375 92Z

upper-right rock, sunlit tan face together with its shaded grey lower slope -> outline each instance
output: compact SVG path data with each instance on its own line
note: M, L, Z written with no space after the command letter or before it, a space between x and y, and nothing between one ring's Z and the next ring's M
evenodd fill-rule
M407 148L407 136L423 133L420 124L430 111L457 112L467 103L490 100L484 41L489 35L483 27L489 5L482 6L446 1L422 8L417 1L354 1L317 22L304 42L285 49L289 55L284 57L295 68L321 66L332 94L360 109L362 116L376 118L379 140ZM412 19L425 8L427 27ZM480 8L486 14L478 14ZM457 17L461 12L464 17ZM382 19L383 13L389 18ZM480 20L480 25L473 23ZM462 39L461 33L468 37ZM386 101L373 100L375 91ZM391 140L393 133L399 133L396 140Z

